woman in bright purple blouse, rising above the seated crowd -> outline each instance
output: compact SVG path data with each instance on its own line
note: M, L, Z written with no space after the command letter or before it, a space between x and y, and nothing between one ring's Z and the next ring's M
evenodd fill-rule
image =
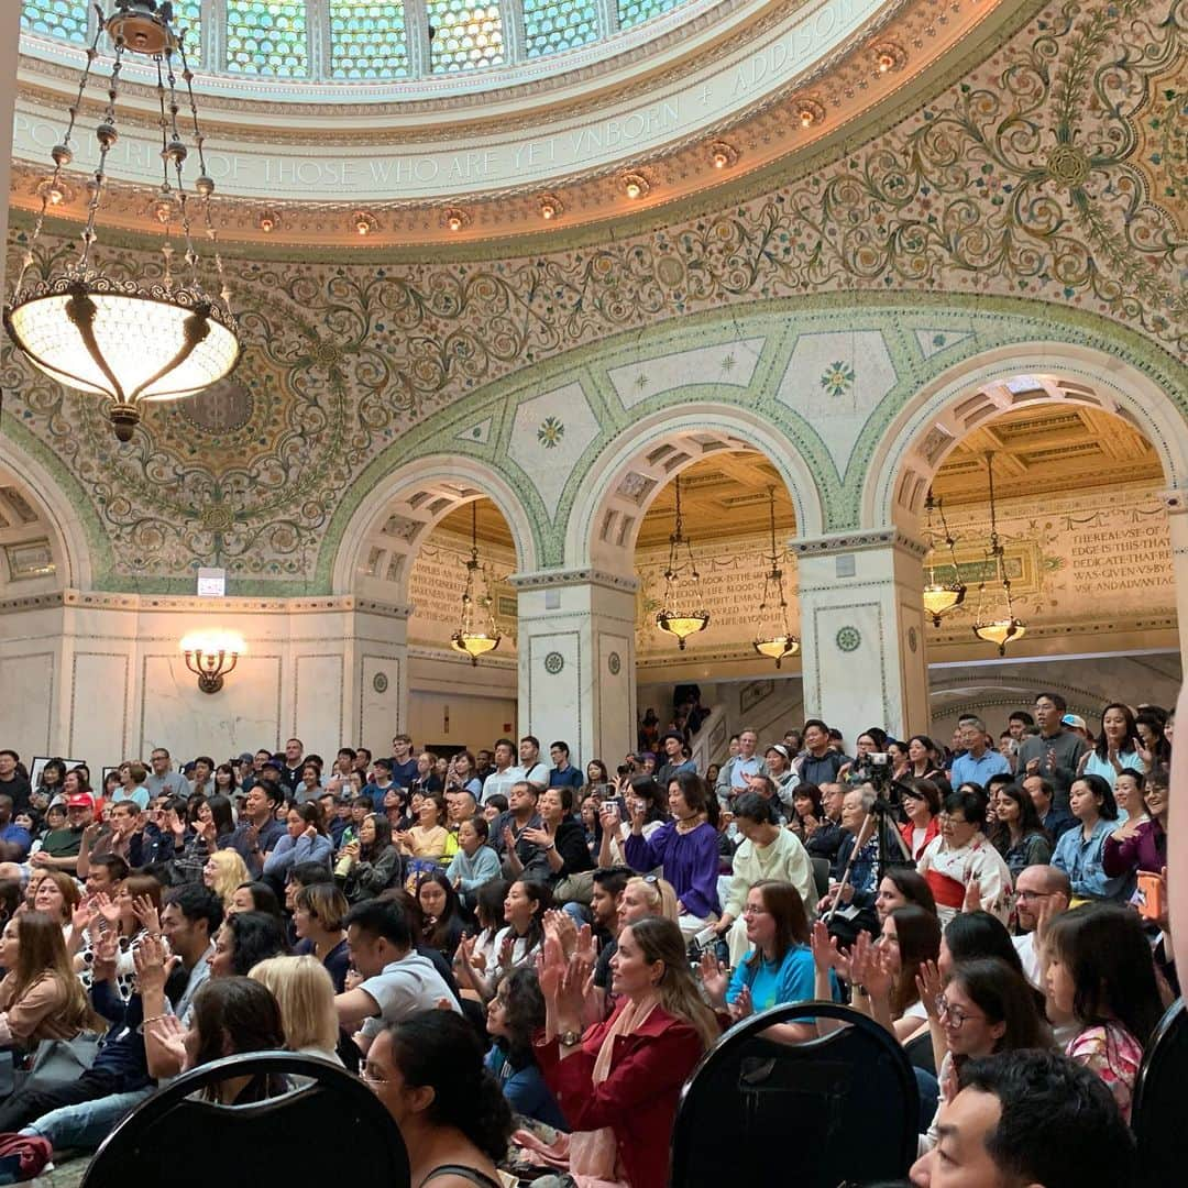
M709 822L706 784L695 772L682 771L669 781L666 821L650 838L644 836L647 805L628 801L631 834L623 852L637 871L662 867L672 884L681 914L681 931L695 936L721 912L718 902L718 830Z

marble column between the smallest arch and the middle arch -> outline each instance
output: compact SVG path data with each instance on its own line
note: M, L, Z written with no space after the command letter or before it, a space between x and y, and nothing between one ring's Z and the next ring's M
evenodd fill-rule
M636 745L636 580L593 569L516 574L519 732L612 772Z

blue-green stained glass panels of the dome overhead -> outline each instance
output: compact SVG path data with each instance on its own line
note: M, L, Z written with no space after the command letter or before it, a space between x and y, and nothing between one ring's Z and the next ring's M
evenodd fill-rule
M694 0L175 0L204 74L295 82L431 78L580 49ZM424 12L428 20L417 19ZM90 0L24 0L21 29L86 45Z

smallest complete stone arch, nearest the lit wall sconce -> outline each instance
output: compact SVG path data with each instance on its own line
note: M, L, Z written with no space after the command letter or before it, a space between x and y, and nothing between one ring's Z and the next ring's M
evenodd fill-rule
M482 498L507 520L518 568L535 569L532 524L507 480L475 459L430 455L392 472L360 501L335 554L333 592L405 604L425 538L456 507Z

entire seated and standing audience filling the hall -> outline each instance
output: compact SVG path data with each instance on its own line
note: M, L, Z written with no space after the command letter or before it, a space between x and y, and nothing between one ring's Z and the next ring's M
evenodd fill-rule
M663 1188L704 1053L824 998L927 1037L914 1183L1016 1182L946 1169L999 1158L1009 1114L1026 1146L1020 1093L1125 1171L1178 994L1173 718L1110 704L1094 732L1044 693L998 737L968 716L948 746L872 727L852 748L810 719L765 746L742 729L699 771L699 709L645 716L613 777L531 734L329 760L293 738L179 767L157 747L97 788L57 759L34 786L0 750L0 1142L91 1150L184 1069L287 1049L362 1076L413 1183ZM1019 1183L1125 1183L1041 1178L1032 1145Z

